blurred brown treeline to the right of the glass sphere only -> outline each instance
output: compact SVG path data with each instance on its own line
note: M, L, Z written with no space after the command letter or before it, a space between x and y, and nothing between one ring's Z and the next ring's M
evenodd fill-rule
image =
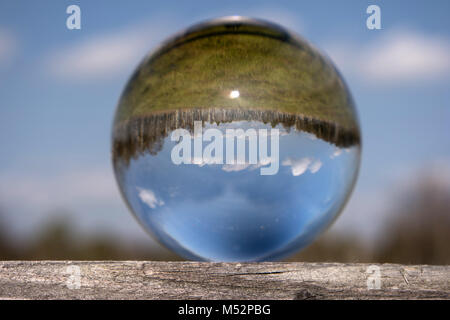
M450 264L450 190L431 177L418 180L397 196L372 248L352 236L325 235L290 260Z

